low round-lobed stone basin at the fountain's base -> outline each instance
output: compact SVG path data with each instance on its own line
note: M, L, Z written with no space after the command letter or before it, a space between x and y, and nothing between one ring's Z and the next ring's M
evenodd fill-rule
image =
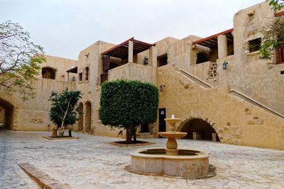
M209 154L193 149L178 149L177 156L169 156L164 148L138 149L131 152L132 171L163 173L185 178L202 178L209 173Z

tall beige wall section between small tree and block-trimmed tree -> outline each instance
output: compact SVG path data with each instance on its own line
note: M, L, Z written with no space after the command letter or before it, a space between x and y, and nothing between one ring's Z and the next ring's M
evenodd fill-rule
M83 103L83 130L82 132L116 137L119 130L111 129L106 125L102 125L99 120L99 97L100 97L100 74L103 73L102 68L102 52L114 47L114 44L97 41L80 52L78 57L78 74L83 74L83 81L77 81L76 90L82 91L81 103ZM89 80L85 79L85 68L89 67ZM87 116L86 103L90 102L91 112L91 130L86 132ZM78 125L75 126L75 130Z

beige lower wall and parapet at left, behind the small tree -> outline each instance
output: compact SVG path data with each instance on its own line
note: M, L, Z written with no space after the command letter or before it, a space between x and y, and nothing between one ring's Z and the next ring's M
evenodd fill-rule
M55 81L53 79L38 79L34 81L35 98L23 101L21 96L13 96L1 92L1 101L9 103L13 108L9 113L11 130L51 130L53 123L49 120L51 91L61 92L64 88L75 90L74 82Z

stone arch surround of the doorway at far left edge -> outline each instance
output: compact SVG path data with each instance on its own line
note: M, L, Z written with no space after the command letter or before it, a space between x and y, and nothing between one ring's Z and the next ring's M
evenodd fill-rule
M4 110L4 127L18 130L18 106L4 96L0 98L0 106Z

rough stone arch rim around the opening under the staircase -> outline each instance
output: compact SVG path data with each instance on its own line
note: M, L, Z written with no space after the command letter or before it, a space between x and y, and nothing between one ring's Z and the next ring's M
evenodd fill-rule
M176 124L177 131L181 132L182 127L190 123L192 120L201 120L203 122L207 122L209 126L212 127L212 129L217 133L217 137L222 139L222 131L217 127L216 122L212 120L211 118L208 118L205 115L199 114L199 113L190 113L188 115L185 115L181 118L181 120Z

